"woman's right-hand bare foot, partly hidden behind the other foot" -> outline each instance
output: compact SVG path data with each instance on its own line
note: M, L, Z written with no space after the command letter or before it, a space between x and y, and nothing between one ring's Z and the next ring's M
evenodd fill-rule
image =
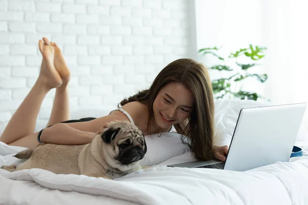
M65 63L64 56L62 55L60 48L56 45L55 42L51 42L50 44L54 49L53 65L55 67L55 70L61 75L63 85L67 85L70 79L70 71Z

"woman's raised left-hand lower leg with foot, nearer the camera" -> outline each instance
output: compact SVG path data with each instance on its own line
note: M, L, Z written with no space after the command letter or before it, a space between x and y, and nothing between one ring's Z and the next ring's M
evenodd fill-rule
M0 141L6 144L33 134L44 97L49 90L62 84L62 78L53 65L54 48L47 38L44 37L43 40L44 43L42 40L38 42L38 47L43 55L40 75L0 137Z

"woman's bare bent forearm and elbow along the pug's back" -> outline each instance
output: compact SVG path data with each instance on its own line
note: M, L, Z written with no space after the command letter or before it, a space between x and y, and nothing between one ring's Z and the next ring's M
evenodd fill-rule
M42 142L59 145L83 145L90 143L94 135L94 132L77 130L59 123L44 129L40 139Z

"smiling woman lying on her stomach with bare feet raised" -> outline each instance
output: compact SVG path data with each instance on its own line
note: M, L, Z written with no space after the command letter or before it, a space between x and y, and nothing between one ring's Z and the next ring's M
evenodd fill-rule
M36 147L39 142L87 144L106 123L130 120L144 135L168 132L174 126L183 134L183 141L188 136L188 146L197 159L225 160L228 147L213 146L213 93L202 64L191 59L175 60L158 74L148 90L122 100L121 108L100 118L74 121L69 120L69 69L59 47L45 37L43 40L38 43L43 55L40 75L10 119L0 141L28 148ZM47 128L38 135L38 132L33 133L37 115L52 88L56 88L56 92L50 119Z

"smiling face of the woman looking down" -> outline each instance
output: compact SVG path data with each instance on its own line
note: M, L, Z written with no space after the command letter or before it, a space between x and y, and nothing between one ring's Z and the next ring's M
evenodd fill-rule
M155 121L160 128L183 122L194 106L194 96L182 84L169 83L157 94L153 103Z

